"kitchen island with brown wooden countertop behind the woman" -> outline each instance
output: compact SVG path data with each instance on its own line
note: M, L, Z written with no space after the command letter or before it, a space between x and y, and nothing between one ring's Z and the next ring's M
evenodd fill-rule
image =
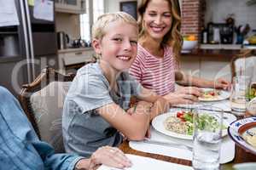
M181 71L210 80L223 77L231 80L230 61L240 50L197 49L180 58Z

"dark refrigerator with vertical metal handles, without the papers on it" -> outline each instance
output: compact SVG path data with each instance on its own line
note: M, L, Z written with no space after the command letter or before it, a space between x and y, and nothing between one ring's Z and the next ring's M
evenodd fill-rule
M17 97L22 84L32 82L46 66L58 69L57 42L55 16L50 21L36 19L34 4L10 1L15 3L19 25L0 26L0 86ZM54 5L52 10L54 14Z

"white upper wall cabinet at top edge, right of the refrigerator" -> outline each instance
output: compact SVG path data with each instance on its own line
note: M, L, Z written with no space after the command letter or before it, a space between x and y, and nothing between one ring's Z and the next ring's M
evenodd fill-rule
M86 13L85 0L55 0L55 11L61 13Z

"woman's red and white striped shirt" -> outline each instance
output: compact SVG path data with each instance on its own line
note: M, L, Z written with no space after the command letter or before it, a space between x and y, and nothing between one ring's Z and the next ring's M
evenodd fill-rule
M137 58L129 72L144 88L166 95L175 90L175 69L172 48L164 46L164 57L157 58L138 44Z

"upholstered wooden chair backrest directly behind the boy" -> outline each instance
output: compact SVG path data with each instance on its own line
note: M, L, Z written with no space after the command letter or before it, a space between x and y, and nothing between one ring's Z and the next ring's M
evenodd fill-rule
M22 86L20 104L39 139L63 152L61 116L64 99L74 74L62 75L45 68L30 84Z

